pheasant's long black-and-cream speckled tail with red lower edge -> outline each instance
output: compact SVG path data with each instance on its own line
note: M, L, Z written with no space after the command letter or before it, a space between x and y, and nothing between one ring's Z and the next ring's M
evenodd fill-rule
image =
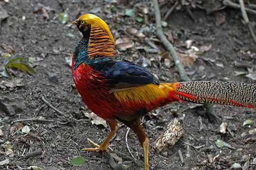
M213 103L255 108L256 84L239 82L163 83L174 87L172 95L194 103Z

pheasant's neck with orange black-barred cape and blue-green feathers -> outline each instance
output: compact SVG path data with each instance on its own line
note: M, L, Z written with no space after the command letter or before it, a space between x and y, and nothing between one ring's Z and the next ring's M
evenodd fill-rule
M105 61L122 60L110 36L101 27L92 27L83 33L74 52L74 69L81 63L93 64Z

